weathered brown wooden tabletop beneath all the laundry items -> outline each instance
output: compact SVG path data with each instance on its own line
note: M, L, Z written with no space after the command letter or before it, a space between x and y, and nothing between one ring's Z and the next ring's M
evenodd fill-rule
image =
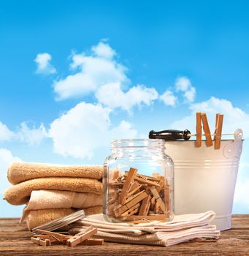
M0 219L0 255L249 255L249 214L234 215L232 228L218 241L189 241L175 246L104 243L104 246L39 246L19 219Z

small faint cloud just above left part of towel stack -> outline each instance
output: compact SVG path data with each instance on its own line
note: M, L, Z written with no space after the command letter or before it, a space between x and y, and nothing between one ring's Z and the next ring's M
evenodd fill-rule
M44 138L47 137L47 131L45 126L41 124L38 128L28 127L27 122L22 122L20 128L18 129L17 135L18 139L28 145L39 144Z

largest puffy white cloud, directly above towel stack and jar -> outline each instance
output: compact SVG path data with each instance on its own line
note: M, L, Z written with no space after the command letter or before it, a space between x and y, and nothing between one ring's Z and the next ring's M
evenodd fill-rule
M137 131L127 121L110 123L110 109L81 102L50 125L54 150L64 156L91 159L93 151L115 138L134 138Z

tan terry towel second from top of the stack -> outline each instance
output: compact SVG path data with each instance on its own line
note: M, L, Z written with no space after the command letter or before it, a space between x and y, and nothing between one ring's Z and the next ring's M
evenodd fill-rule
M101 195L102 183L94 178L34 178L6 189L4 199L12 205L22 205L28 202L33 190L39 189L91 192Z

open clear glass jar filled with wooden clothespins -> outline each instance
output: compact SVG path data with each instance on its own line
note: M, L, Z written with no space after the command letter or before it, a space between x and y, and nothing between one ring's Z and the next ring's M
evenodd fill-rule
M104 162L103 213L109 222L170 221L174 165L164 140L112 140Z

